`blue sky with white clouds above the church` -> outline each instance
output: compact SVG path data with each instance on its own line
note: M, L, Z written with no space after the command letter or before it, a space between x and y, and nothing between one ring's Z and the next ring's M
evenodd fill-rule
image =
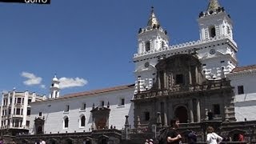
M255 0L219 0L234 22L238 65L256 64ZM0 90L61 95L134 83L138 29L150 7L170 45L199 39L198 14L208 0L51 0L0 3Z

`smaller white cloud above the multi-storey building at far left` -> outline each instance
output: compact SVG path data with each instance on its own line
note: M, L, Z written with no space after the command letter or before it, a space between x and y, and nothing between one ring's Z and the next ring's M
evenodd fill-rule
M22 72L22 77L28 78L26 81L24 81L24 85L31 86L31 85L39 85L42 82L42 78L35 76L32 73Z

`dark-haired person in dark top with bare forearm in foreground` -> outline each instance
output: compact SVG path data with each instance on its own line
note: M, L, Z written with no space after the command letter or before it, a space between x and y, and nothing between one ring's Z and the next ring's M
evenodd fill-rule
M179 126L179 120L178 118L174 118L170 121L170 130L167 134L167 143L172 143L172 144L179 144L182 141L182 136L181 134L178 134L178 126Z

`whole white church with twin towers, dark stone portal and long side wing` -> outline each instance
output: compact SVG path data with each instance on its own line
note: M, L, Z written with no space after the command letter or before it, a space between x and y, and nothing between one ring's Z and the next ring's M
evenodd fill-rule
M230 15L210 0L198 26L198 41L172 46L152 8L146 27L138 30L134 84L61 95L55 76L49 97L30 104L30 134L151 128L169 125L174 116L184 125L255 121L256 66L238 66ZM103 142L92 137L86 135L86 142Z

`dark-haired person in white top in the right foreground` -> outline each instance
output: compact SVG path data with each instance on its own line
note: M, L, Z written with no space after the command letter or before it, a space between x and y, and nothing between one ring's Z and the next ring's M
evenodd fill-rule
M207 138L206 143L207 144L218 144L222 142L222 137L218 134L214 133L214 128L212 126L207 127Z

